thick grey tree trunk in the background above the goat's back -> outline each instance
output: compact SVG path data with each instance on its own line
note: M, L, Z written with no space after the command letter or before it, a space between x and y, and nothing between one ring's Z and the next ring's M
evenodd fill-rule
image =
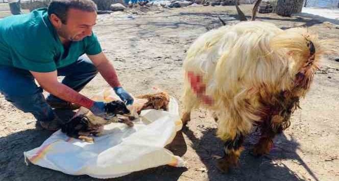
M301 13L302 8L302 0L278 0L276 13L281 16L291 16L294 13Z

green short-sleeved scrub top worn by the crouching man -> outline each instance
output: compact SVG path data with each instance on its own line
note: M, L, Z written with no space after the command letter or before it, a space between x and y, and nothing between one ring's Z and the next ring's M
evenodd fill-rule
M101 52L98 38L92 33L81 41L72 41L65 53L47 8L0 20L0 65L34 72L53 72L74 63L83 54Z

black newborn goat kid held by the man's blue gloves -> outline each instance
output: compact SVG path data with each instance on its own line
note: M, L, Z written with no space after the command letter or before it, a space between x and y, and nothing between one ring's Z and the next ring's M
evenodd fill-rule
M93 143L93 138L89 136L98 136L101 133L101 129L104 125L112 122L119 122L120 119L117 115L130 116L130 110L127 109L123 101L112 101L105 103L106 117L112 117L110 119L104 119L92 114L88 111L85 115L80 115L69 120L62 128L61 131L66 133L68 137L80 139L82 141ZM133 123L129 119L124 119L122 122L128 126L133 126Z

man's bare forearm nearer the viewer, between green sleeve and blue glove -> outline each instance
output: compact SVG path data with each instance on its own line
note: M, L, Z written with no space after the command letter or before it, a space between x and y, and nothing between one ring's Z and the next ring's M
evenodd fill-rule
M69 88L68 86L58 82L57 71L40 73L30 71L39 84L47 92L53 94L54 96L63 99L67 102L72 102L79 104L83 107L90 108L93 105L93 101L89 98L79 94L75 90Z

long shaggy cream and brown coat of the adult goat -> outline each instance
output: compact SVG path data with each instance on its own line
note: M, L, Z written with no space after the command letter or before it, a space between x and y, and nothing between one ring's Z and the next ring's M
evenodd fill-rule
M254 123L285 129L318 69L329 53L328 42L306 28L281 30L268 22L240 22L199 37L184 61L184 115L200 106L218 118L217 135L234 140ZM189 74L201 76L205 104L191 86Z

